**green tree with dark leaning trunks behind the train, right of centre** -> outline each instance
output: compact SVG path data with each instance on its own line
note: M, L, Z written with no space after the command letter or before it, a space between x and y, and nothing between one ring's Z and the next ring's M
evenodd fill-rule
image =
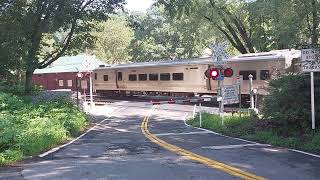
M227 0L159 0L167 12L178 18L182 16L206 19L240 53L255 52L248 31L248 12L244 10L245 1Z

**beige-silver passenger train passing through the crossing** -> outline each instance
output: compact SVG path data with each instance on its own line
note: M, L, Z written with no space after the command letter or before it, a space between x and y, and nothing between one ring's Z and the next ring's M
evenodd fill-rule
M225 85L235 84L243 76L242 94L249 94L249 74L258 94L267 94L267 80L284 71L299 71L298 50L279 50L245 54L225 62L234 75L224 79ZM94 70L94 91L97 94L151 94L194 96L217 93L217 81L205 77L208 68L215 67L212 58L121 64Z

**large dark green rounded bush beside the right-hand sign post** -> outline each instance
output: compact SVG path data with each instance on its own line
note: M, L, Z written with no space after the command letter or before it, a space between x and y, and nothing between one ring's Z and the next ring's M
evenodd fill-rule
M320 77L316 76L315 99L320 112ZM304 74L287 74L269 82L269 95L264 99L262 114L278 127L278 132L304 133L311 126L310 77ZM320 125L320 121L317 122Z

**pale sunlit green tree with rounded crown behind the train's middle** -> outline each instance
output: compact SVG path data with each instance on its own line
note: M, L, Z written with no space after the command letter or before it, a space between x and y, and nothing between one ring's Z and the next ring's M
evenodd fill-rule
M161 6L133 14L129 22L135 29L130 45L133 61L198 57L214 39L211 27L203 21L168 16Z

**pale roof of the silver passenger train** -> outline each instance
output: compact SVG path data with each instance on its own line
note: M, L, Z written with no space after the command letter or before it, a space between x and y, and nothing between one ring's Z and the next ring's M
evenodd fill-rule
M242 54L231 57L226 62L248 62L248 61L273 61L279 59L292 59L301 56L300 50L275 50L262 53ZM142 68L142 67L158 67L158 66L178 66L178 65L198 65L198 64L214 64L211 57L179 59L179 60L162 60L149 61L141 63L118 64L109 67L99 67L99 69L126 69L126 68Z

